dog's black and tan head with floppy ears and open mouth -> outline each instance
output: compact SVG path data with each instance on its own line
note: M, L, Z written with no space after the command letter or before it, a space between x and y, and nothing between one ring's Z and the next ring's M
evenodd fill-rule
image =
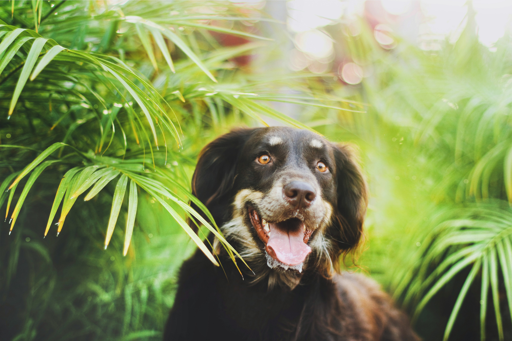
M192 189L257 279L329 276L361 238L364 178L347 146L308 130L232 130L203 149Z

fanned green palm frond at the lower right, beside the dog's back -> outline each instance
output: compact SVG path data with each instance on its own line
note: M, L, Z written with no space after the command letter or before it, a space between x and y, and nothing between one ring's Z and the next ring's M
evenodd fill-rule
M410 269L399 279L402 285L398 286L395 295L399 297L404 294L406 303L416 306L415 316L417 317L439 289L471 266L472 270L467 275L458 294L446 325L444 339L448 339L465 294L480 272L482 272L481 296L483 302L480 306L482 335L485 335L486 297L490 285L493 292L499 338L503 339L500 300L498 299L498 272L501 272L503 278L507 278L506 283L508 283L508 274L512 265L512 248L506 248L505 245L512 243L512 227L510 227L512 226L512 210L499 209L487 204L464 210L448 210L442 216L444 219L450 216L457 218L440 222L424 238L419 254L411 260ZM485 219L475 217L485 217ZM423 260L421 263L417 263L418 259ZM433 264L436 264L436 267L430 270L429 268ZM410 285L411 276L415 277L414 283L421 283L421 285ZM511 290L507 284L505 287L509 299ZM414 303L418 299L421 299L419 303ZM508 302L510 307L511 301Z

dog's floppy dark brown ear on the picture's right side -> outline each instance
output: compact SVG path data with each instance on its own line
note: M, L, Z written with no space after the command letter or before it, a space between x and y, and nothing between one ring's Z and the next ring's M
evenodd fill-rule
M368 206L368 189L350 146L333 145L337 205L333 224L340 250L357 246ZM339 234L340 233L340 234ZM337 239L337 238L336 238Z

